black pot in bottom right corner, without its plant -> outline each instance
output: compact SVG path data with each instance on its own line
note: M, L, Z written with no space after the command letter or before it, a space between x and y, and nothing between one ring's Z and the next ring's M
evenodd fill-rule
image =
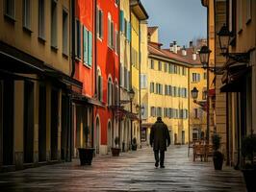
M243 169L243 178L248 192L256 191L256 169Z

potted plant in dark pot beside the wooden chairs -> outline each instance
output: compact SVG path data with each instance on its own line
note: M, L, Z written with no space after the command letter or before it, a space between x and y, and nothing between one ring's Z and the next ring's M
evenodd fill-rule
M213 150L214 150L213 159L214 159L215 170L222 170L222 164L224 159L223 154L221 154L218 151L220 147L220 139L221 137L218 135L218 133L214 133L212 135Z

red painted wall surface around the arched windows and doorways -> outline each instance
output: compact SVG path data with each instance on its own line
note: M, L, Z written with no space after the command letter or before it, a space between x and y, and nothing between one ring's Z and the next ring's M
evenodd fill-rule
M115 50L108 47L108 12L112 16L114 21L114 28L119 31L119 19L118 19L118 7L115 6L115 0L97 0L97 6L103 11L103 39L97 39L97 67L100 68L103 77L103 102L107 104L107 87L108 77L112 76L112 80L115 83L115 79L119 80L119 58L115 54ZM110 119L113 124L112 111L108 108L95 108L94 115L100 116L101 124L101 144L107 144L107 127L108 120Z

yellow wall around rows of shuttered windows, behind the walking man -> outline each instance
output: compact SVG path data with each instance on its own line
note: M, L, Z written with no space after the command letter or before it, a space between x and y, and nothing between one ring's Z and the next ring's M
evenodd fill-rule
M180 70L180 74L169 74L165 72L165 62L176 64L173 61L169 60L161 60L162 61L162 70L159 71L158 69L158 61L160 59L156 59L154 57L149 56L148 64L154 60L155 69L148 69L148 121L146 123L153 124L156 122L157 117L152 117L150 115L150 108L162 108L162 117L163 121L166 123L169 131L171 131L171 140L172 143L174 142L174 134L177 134L177 142L182 142L182 131L185 131L185 143L189 141L189 119L174 119L174 118L165 118L164 117L164 108L177 108L177 109L188 109L189 110L189 100L188 98L182 97L174 97L174 96L166 96L165 95L165 84L176 86L176 87L183 87L189 88L188 84L188 74L189 70L186 67L187 75L182 75L182 71ZM176 64L177 65L177 64ZM149 65L148 65L149 66ZM177 65L178 67L182 67L182 65ZM157 83L163 84L163 95L150 93L150 83ZM156 87L155 87L156 89ZM188 93L188 92L187 92ZM188 95L189 96L189 95Z

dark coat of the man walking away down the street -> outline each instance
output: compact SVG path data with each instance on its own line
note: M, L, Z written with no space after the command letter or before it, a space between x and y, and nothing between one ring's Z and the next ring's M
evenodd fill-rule
M151 128L150 145L153 144L154 151L166 151L166 142L170 144L168 128L162 120L158 120Z

